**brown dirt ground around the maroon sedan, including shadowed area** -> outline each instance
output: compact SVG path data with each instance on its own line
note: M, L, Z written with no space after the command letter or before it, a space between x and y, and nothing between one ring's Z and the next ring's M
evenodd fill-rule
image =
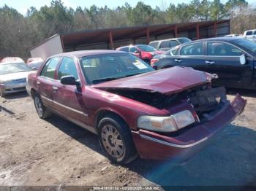
M0 98L0 185L255 185L256 93L221 136L185 165L140 158L111 164L97 136L58 116L40 120L26 93Z

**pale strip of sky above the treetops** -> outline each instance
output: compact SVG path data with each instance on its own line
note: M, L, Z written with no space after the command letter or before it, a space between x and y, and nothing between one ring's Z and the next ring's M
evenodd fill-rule
M128 2L132 7L138 3L138 1L143 1L145 4L149 4L151 7L158 6L160 9L165 9L169 6L170 3L178 4L178 3L188 3L189 1L184 0L62 0L64 5L67 7L72 7L75 9L80 6L91 7L91 5L95 4L97 7L105 7L108 5L110 8L116 8L118 6L124 5L125 2ZM227 0L222 0L222 3L225 3ZM249 4L255 2L255 0L247 0ZM0 0L0 7L7 4L9 7L15 8L23 15L26 15L26 11L29 7L36 7L40 9L40 7L44 5L50 5L50 0Z

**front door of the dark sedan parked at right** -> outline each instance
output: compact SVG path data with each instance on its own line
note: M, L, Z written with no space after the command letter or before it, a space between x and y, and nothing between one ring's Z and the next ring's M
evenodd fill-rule
M227 42L207 42L206 64L208 72L217 74L216 85L226 87L243 87L252 80L251 66L253 62L247 58L247 63L241 64L241 55L246 52Z

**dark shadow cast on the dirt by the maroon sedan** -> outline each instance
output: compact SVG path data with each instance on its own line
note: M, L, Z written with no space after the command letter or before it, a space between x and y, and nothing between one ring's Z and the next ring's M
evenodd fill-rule
M48 122L90 149L104 155L97 136L61 117ZM228 125L220 136L203 152L185 165L171 161L142 160L138 157L127 165L130 171L143 176L140 184L148 181L161 186L170 185L255 185L256 186L256 131Z

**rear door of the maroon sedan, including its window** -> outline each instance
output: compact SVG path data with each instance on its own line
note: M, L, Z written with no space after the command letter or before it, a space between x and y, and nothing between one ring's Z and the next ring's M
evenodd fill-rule
M37 91L40 94L42 103L53 110L55 110L55 106L53 105L53 81L56 76L56 66L58 66L59 61L59 57L50 58L37 77Z

